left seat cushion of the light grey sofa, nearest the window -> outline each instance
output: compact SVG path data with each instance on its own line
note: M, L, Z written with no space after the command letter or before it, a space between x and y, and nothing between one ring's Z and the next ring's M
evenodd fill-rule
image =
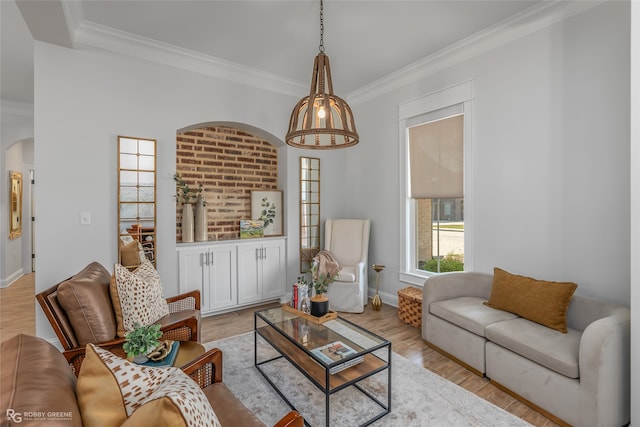
M481 337L488 325L518 318L513 313L487 307L484 302L484 298L453 298L431 303L429 312Z

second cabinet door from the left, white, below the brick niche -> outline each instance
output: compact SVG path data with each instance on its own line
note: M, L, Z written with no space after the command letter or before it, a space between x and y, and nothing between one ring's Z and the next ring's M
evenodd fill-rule
M213 310L238 303L235 245L212 246L209 250L210 307Z

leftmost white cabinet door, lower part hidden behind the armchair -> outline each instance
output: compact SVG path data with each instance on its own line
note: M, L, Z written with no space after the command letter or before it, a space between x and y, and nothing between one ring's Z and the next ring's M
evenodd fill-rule
M180 293L200 291L202 311L207 311L209 300L209 268L205 261L206 248L190 248L178 251L178 275ZM205 286L206 284L206 286Z

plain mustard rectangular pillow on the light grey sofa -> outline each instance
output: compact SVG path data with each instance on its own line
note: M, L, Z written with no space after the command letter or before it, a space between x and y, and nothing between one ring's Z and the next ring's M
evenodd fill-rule
M491 297L485 304L567 333L567 310L578 285L549 282L493 269Z

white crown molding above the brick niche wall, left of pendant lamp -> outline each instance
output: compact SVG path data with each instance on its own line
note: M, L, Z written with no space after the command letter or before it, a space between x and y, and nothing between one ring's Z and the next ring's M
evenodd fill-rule
M91 21L83 21L78 26L75 30L75 41L79 45L97 47L114 53L195 71L211 77L242 85L255 86L284 95L300 97L307 90L306 84L292 79L204 55L169 43L116 30Z

